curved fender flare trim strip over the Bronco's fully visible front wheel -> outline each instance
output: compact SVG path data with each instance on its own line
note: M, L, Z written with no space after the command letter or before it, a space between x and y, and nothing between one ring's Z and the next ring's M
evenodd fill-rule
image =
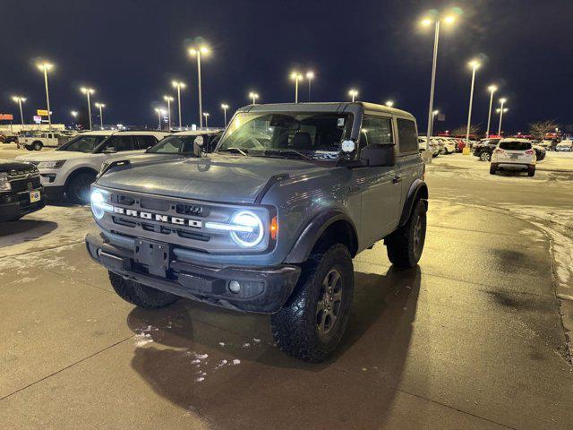
M314 245L316 245L326 229L340 220L346 221L353 229L353 240L355 241L353 247L355 249L349 251L351 254L355 254L355 251L358 248L358 236L356 235L355 223L352 221L352 219L350 219L350 217L346 215L344 211L331 209L328 211L323 211L311 219L300 236L298 236L295 245L293 245L288 255L286 255L285 263L294 264L305 262L312 253Z

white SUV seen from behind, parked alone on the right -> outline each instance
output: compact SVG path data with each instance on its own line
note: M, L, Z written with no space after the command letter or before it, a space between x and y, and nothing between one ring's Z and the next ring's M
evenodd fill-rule
M535 175L535 149L527 139L501 139L492 153L490 173L500 169L527 170L528 176Z

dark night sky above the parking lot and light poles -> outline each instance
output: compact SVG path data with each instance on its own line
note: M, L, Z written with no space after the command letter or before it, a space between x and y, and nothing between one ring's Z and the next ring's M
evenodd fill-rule
M56 65L50 74L54 122L69 123L69 112L85 105L79 87L87 84L98 91L93 101L107 104L106 124L156 125L153 108L164 106L164 94L175 96L170 82L178 79L188 84L184 123L197 123L196 63L187 47L203 38L212 49L202 59L210 125L223 123L221 102L233 111L248 104L249 90L263 103L294 101L288 74L297 68L316 73L315 101L346 100L355 87L358 99L393 99L425 130L433 30L417 22L429 9L453 5L464 14L441 32L434 106L446 122L435 128L466 123L466 63L481 56L473 123L485 128L486 87L495 82L498 96L509 99L504 129L525 131L532 121L555 119L573 131L572 1L4 0L0 113L16 116L14 94L28 97L28 117L45 107L34 64L46 58ZM303 101L306 88L303 82Z

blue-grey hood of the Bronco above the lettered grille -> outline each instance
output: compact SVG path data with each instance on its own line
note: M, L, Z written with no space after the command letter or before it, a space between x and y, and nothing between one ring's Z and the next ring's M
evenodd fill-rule
M99 177L97 184L175 198L253 203L271 176L310 175L329 168L332 167L298 159L212 154L208 158L176 159L112 169Z

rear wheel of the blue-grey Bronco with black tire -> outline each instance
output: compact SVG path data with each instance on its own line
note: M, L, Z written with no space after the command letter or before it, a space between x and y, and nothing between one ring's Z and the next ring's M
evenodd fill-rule
M415 267L422 257L425 238L426 206L418 200L406 224L386 238L389 261L398 267Z

